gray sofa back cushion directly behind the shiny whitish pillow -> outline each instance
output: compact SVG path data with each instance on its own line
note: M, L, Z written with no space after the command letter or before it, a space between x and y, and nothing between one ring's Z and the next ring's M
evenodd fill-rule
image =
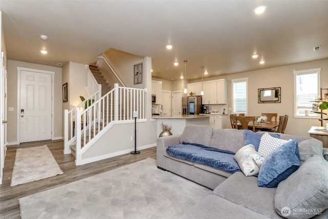
M210 147L237 152L244 146L244 131L238 129L213 129Z

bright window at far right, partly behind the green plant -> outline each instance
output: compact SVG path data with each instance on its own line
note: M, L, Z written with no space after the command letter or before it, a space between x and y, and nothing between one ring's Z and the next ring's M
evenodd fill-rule
M305 116L305 110L311 113L312 106L320 95L321 68L309 70L294 70L294 115Z

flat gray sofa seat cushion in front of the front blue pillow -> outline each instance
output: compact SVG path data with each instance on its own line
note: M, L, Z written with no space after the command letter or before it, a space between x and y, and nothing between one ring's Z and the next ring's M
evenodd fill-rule
M226 198L226 200L259 214L271 218L282 218L275 210L275 192L276 187L258 187L257 177L245 176L242 172L236 172L218 185L214 189L213 194Z

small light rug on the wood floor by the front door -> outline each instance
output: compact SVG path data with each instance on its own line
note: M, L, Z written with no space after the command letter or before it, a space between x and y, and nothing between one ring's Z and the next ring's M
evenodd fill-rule
M63 173L47 145L17 149L10 186Z

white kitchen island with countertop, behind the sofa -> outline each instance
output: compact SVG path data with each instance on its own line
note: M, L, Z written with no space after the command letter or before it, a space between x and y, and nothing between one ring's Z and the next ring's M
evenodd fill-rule
M163 131L161 123L172 127L171 133L182 133L187 125L210 125L210 115L173 115L161 116L153 115L151 121L157 121L157 136Z

